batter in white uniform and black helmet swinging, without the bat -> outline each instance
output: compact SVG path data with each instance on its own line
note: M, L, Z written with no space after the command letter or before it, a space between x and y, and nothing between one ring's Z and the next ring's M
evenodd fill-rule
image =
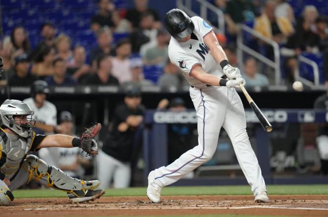
M198 145L172 164L149 173L148 198L159 202L164 186L210 160L223 126L254 193L254 201L269 202L261 169L246 132L243 104L234 89L245 82L240 70L229 65L213 28L202 18L190 18L182 10L172 9L165 15L165 25L172 36L169 58L191 85L190 96L198 117Z

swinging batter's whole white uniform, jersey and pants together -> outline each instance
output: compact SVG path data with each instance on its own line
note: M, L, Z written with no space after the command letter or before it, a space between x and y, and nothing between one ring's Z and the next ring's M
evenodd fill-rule
M223 72L203 38L213 31L200 17L192 17L195 26L191 39L181 43L171 38L168 54L191 84L190 96L197 114L198 145L166 167L154 170L152 180L160 187L170 185L209 161L218 146L221 127L231 139L238 162L254 195L266 191L261 169L246 132L243 103L234 88L207 86L191 77L192 68L201 65L206 73L221 77ZM197 40L194 39L194 35Z

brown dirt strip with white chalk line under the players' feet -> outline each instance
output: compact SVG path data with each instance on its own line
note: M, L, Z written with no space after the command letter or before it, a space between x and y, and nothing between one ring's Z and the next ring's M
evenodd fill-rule
M256 204L243 196L163 196L154 204L145 196L102 197L71 204L67 198L15 199L0 207L1 217L270 215L328 217L328 195L271 195L271 202Z

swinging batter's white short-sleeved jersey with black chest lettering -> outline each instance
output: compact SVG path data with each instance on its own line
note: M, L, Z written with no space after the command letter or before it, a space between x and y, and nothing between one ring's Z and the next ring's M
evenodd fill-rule
M202 88L206 84L196 78L191 77L192 68L201 65L206 73L221 77L223 71L221 66L211 54L210 49L204 43L204 37L213 31L213 28L200 17L192 17L192 23L195 26L193 34L196 39L190 39L181 43L171 37L168 46L168 56L171 62L180 68L182 74L188 80L191 86Z

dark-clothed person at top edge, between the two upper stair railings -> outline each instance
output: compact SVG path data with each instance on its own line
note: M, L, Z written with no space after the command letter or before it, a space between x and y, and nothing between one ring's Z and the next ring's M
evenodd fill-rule
M235 35L239 31L239 25L244 21L253 21L257 14L254 1L229 0L225 7L225 22L228 33Z

